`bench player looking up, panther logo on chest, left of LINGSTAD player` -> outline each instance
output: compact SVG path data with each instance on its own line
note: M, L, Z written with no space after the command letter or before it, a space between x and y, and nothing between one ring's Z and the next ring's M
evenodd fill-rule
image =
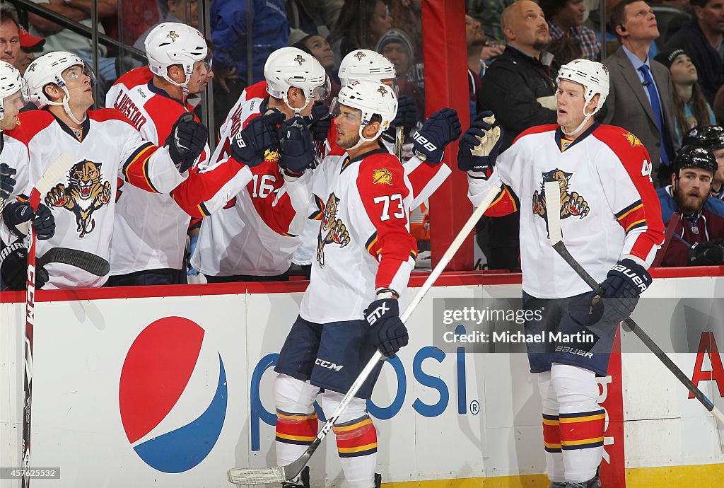
M30 98L41 110L20 115L20 130L30 153L29 180L38 180L61 153L77 161L46 195L56 233L38 242L38 254L66 247L109 258L119 175L131 185L168 193L185 180L203 151L206 129L178 120L165 146L143 140L126 119L93 105L93 72L75 54L56 51L35 59L25 72ZM98 287L97 277L66 264L47 266L49 288Z

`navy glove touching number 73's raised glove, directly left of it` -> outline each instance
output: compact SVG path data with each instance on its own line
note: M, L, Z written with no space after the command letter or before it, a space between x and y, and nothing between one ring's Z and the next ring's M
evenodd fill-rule
M231 156L250 167L264 162L266 151L279 151L277 125L284 122L284 114L277 109L254 117L231 140Z

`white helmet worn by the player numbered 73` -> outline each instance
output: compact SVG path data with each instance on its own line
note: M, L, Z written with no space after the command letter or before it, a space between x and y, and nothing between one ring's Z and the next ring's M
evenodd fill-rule
M362 112L362 120L360 124L360 141L352 148L357 148L363 142L371 142L379 138L384 130L390 127L390 122L395 119L397 114L397 96L392 89L383 83L369 80L353 80L347 86L340 89L339 95L334 104L348 106L353 109L359 109ZM334 112L335 107L330 109ZM366 138L362 135L364 127L372 122L372 117L379 115L381 118L379 130L372 138Z

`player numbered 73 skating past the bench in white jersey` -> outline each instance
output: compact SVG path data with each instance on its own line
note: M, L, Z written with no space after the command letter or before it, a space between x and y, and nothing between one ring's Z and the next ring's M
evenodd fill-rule
M298 458L317 434L313 402L329 416L372 354L395 356L408 343L397 299L415 264L409 232L411 185L378 139L397 111L386 85L353 81L340 89L335 143L314 174L321 227L311 282L274 371L277 463ZM333 426L345 479L373 488L377 437L366 412L379 364Z

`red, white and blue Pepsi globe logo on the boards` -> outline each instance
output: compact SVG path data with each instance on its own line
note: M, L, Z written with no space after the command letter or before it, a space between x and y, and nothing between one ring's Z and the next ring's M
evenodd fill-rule
M159 319L135 338L123 363L118 403L126 437L148 466L164 473L201 463L224 425L224 363L203 338L193 321Z

